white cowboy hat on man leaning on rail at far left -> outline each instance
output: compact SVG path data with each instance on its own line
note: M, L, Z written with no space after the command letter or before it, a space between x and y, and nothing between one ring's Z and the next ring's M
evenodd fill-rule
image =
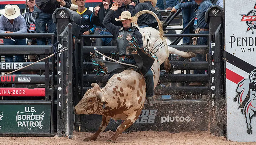
M20 15L18 5L6 5L5 9L0 10L0 12L9 20L15 19Z

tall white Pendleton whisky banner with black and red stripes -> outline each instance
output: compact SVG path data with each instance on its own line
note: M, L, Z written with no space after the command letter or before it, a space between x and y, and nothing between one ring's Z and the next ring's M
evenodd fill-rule
M256 0L225 0L227 138L256 141Z

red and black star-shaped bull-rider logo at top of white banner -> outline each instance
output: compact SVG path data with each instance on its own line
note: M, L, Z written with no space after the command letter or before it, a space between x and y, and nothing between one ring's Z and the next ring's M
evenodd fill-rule
M242 17L242 20L241 22L245 21L248 28L247 28L247 31L248 32L249 30L251 30L251 33L253 34L253 29L256 28L256 5L254 6L254 9L251 10L250 12L248 12L246 15L241 15L243 16Z

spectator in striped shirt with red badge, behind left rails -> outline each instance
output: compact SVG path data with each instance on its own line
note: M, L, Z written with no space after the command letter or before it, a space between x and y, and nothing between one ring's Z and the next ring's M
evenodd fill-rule
M28 12L23 14L23 17L27 25L28 33L36 33L36 21L35 21L35 17L32 14L34 11L34 6L35 6L35 0L26 0L26 7L28 8ZM37 45L36 39L28 39L27 45ZM38 56L30 55L28 59L30 61L37 61Z

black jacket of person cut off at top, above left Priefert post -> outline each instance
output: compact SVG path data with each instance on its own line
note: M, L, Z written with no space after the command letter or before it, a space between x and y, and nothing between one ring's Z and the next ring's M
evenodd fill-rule
M71 0L64 0L66 5L64 7L70 8ZM45 13L53 13L56 8L60 7L56 0L36 0L36 5Z

